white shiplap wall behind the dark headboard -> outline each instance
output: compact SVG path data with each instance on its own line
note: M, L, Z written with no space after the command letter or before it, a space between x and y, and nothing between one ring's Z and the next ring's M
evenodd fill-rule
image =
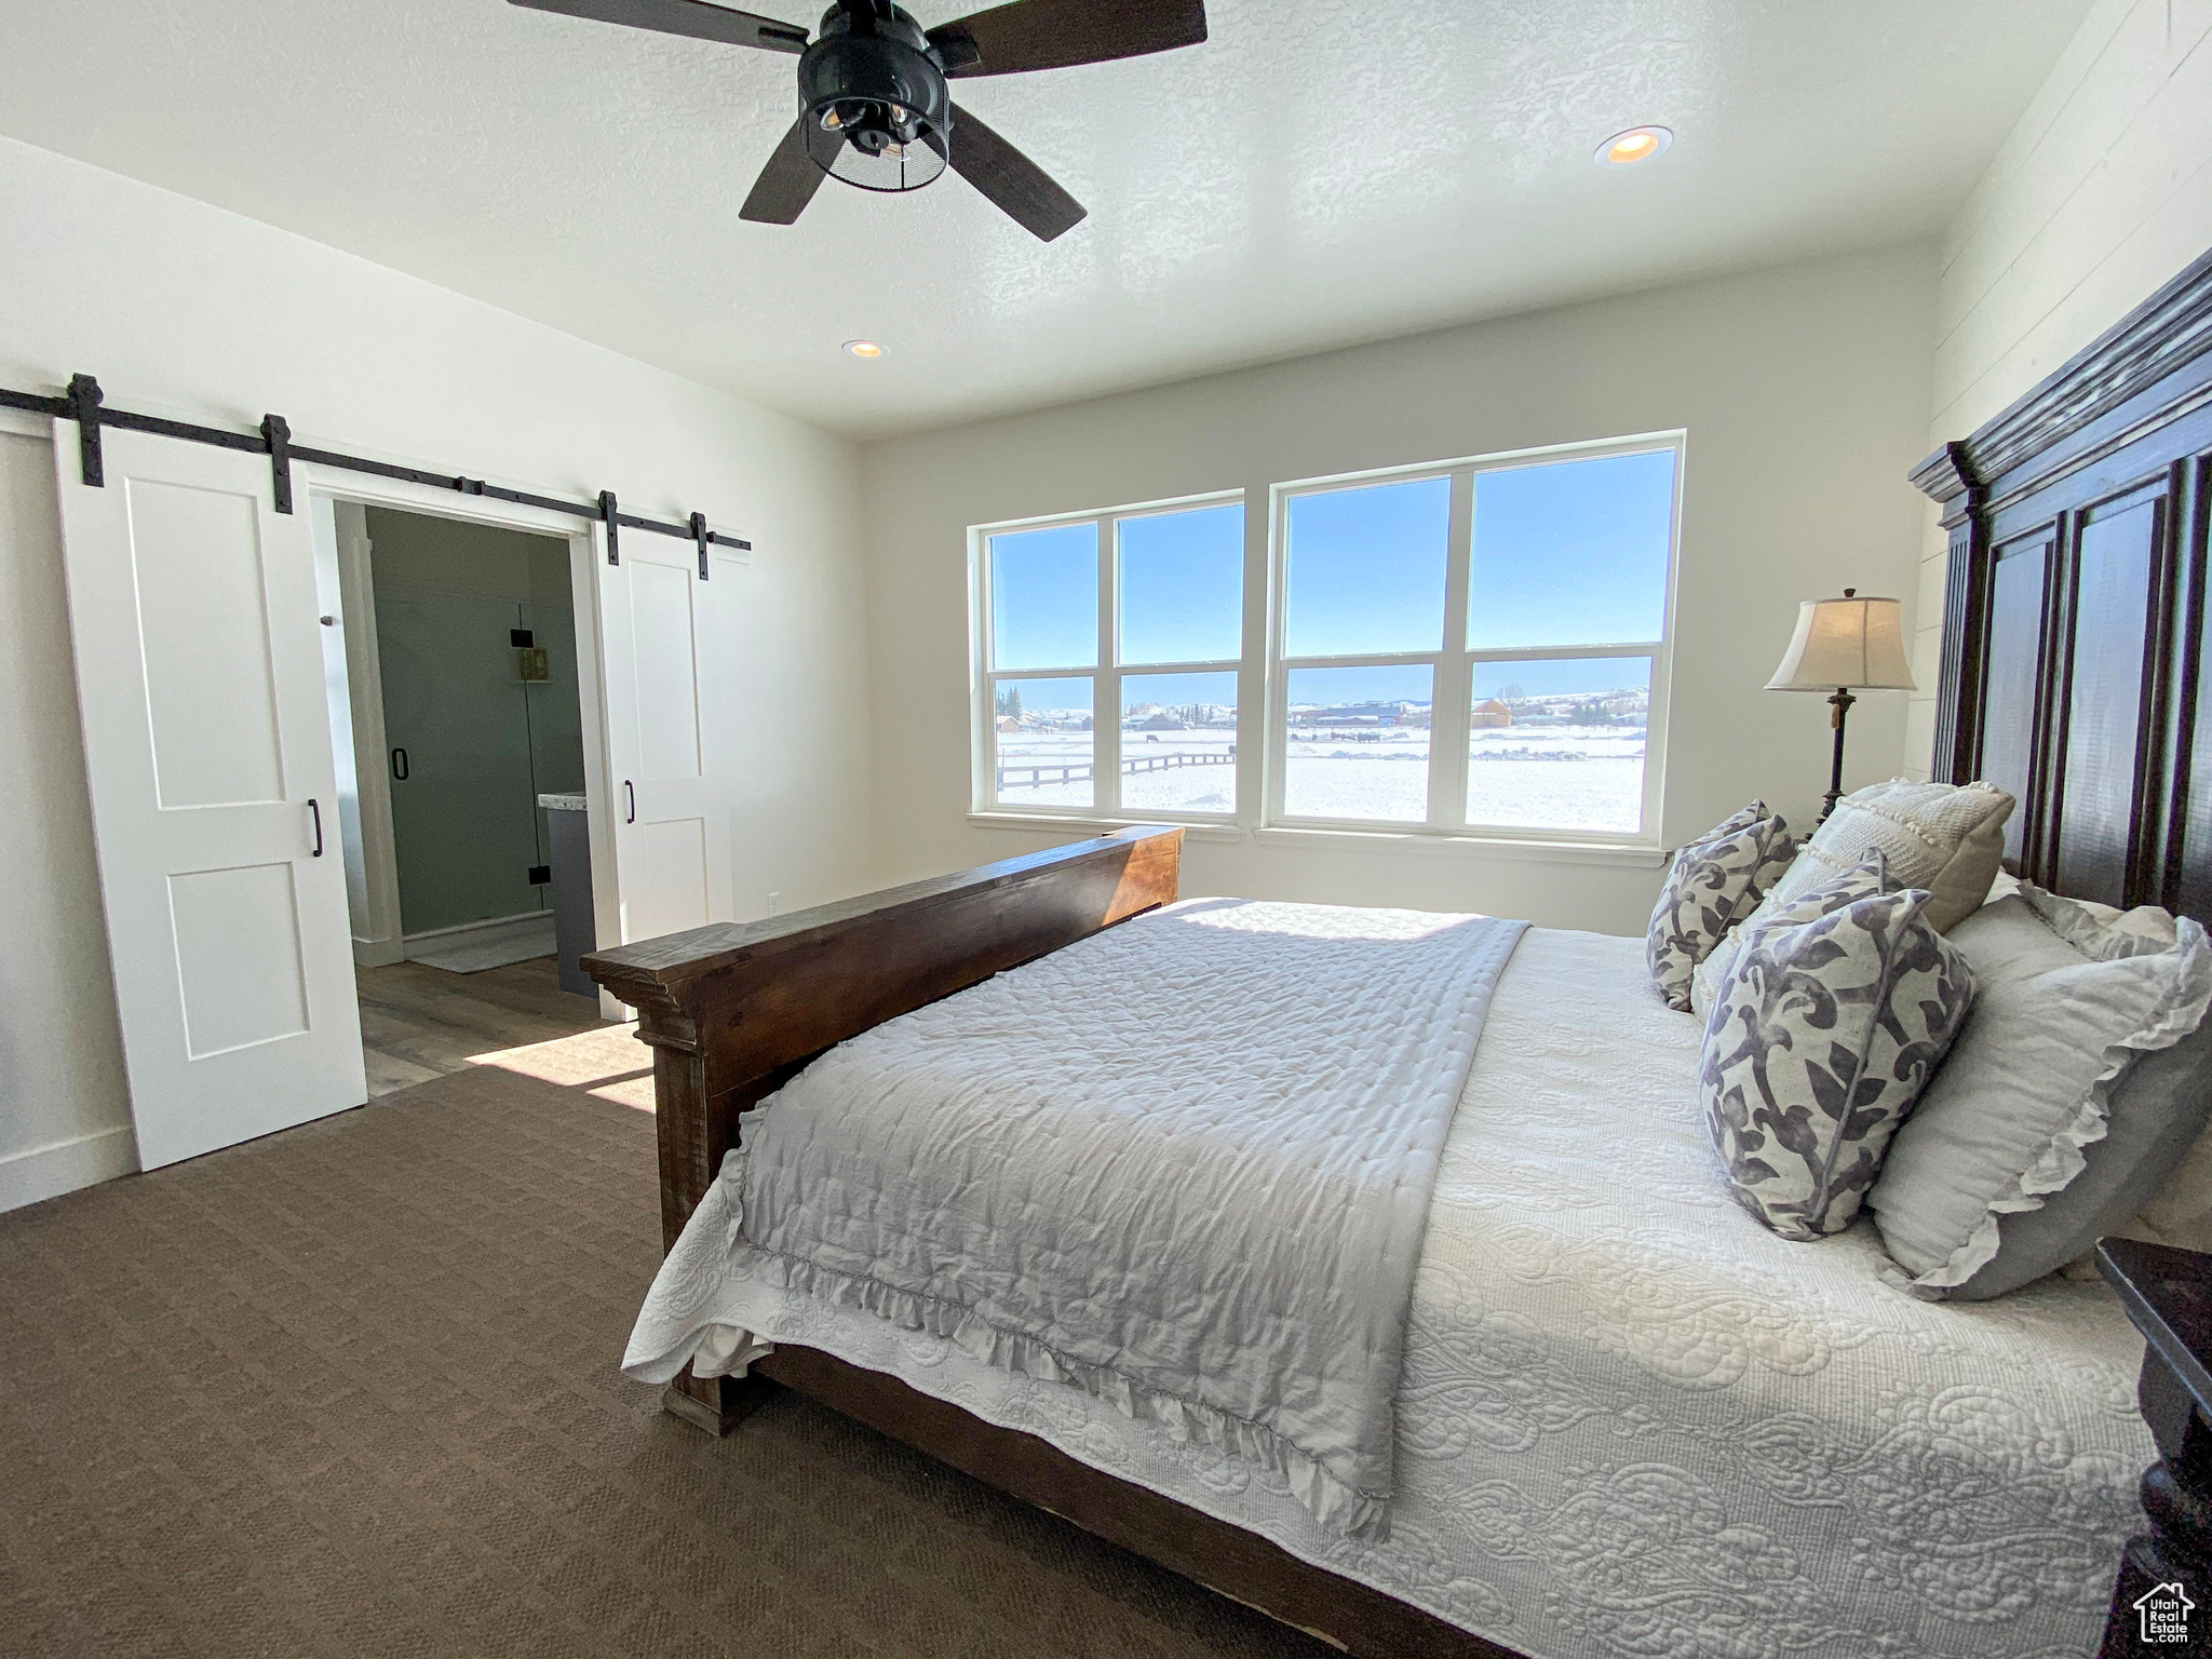
M1964 438L2212 248L2212 0L2099 0L1942 239L1936 418ZM1944 538L1927 513L1909 732L1927 776Z

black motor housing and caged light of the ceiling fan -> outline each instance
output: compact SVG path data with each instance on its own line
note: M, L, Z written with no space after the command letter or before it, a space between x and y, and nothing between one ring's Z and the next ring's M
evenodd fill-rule
M863 190L920 190L945 170L951 91L922 27L887 0L836 4L799 58L807 155Z

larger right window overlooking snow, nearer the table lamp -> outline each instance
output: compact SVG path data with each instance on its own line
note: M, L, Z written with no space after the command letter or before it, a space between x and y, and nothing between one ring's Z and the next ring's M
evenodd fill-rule
M1657 836L1679 442L1276 491L1272 821Z

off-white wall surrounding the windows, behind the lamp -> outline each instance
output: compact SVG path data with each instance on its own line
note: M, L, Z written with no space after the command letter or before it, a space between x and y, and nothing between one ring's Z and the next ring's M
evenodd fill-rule
M869 445L878 876L1066 838L967 821L969 524L1239 487L1265 518L1279 480L1670 427L1690 438L1661 834L1672 845L1754 794L1809 823L1827 708L1759 688L1798 599L1851 584L1911 611L1933 288L1933 248L1916 243ZM1847 783L1891 776L1902 743L1905 699L1869 692ZM1657 887L1650 856L1283 832L1194 836L1183 883L1613 933L1644 929Z

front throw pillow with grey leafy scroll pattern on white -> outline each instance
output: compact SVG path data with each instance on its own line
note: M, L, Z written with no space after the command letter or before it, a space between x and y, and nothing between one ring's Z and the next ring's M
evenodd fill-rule
M1785 1239L1843 1232L1889 1137L1966 1020L1973 969L1927 922L1929 894L1880 887L1878 860L1801 894L1736 951L1705 1024L1699 1095L1728 1183Z

